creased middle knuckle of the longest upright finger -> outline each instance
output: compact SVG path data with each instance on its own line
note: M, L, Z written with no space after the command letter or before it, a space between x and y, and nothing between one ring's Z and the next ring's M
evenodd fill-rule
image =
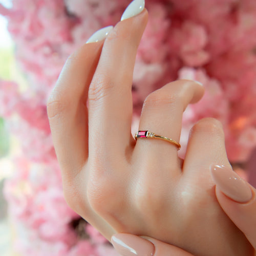
M106 77L97 77L92 81L88 91L89 102L98 102L108 96L113 89L113 83Z

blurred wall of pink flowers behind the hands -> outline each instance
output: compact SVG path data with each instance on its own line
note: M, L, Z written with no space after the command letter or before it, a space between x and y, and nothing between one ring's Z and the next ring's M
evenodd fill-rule
M66 204L46 102L67 57L98 29L115 25L129 0L13 0L0 4L15 55L29 84L0 80L0 117L22 146L5 197L21 255L117 255ZM146 0L150 14L133 82L134 123L144 98L175 79L204 84L184 113L181 144L203 117L224 126L228 158L246 162L256 146L256 1ZM1 144L1 143L0 143ZM1 147L2 148L2 147Z

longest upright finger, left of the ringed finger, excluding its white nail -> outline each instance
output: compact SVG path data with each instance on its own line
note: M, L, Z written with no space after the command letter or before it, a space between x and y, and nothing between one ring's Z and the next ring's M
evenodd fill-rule
M124 154L131 145L132 80L147 11L122 20L105 39L89 88L89 152ZM103 142L103 143L102 143Z

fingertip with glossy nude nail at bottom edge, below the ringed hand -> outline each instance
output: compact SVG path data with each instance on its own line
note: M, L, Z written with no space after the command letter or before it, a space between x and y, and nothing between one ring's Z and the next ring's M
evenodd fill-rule
M174 245L134 234L114 234L111 242L122 256L193 256Z

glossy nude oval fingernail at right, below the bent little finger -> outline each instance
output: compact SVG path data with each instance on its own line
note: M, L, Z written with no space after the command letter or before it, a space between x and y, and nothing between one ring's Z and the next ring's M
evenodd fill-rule
M231 168L212 165L210 172L215 184L226 196L239 203L250 201L252 198L250 187Z

